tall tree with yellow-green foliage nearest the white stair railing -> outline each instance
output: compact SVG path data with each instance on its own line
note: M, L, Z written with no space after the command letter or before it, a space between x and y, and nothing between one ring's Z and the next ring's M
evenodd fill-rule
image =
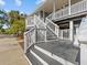
M25 30L25 17L23 17L19 11L9 12L10 18L10 29L9 34L23 34Z

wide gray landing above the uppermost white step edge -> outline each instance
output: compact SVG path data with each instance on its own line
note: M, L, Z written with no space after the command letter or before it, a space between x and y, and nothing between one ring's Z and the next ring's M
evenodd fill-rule
M39 47L51 52L52 54L55 54L70 63L74 63L77 65L76 57L78 55L79 48L73 47L69 43L68 44L62 44L62 43L41 43L36 44Z

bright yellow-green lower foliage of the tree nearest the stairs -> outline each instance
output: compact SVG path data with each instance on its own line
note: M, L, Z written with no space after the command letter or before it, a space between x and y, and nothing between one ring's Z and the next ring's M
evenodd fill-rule
M21 34L24 32L24 21L23 20L17 20L13 22L11 28L9 29L9 34Z

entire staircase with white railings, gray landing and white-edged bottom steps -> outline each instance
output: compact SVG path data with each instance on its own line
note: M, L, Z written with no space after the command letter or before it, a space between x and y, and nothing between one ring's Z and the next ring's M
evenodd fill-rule
M79 48L58 39L58 26L34 17L34 26L24 33L24 52L32 65L78 65Z

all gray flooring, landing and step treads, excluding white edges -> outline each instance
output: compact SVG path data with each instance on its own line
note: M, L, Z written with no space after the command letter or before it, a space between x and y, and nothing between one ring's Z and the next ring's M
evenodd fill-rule
M79 48L73 46L72 42L69 42L69 41L67 41L67 42L66 41L54 41L54 42L47 42L47 43L39 43L35 45L42 47L43 50L51 52L52 54L55 54L75 65L78 65L78 63L79 63L79 56L78 56ZM35 50L33 46L31 50L35 54L37 54L41 58L43 58L45 62L47 62L50 65L62 65L59 62L52 59L47 55ZM33 63L33 65L42 65L30 52L26 53L26 56L30 58L30 61Z

